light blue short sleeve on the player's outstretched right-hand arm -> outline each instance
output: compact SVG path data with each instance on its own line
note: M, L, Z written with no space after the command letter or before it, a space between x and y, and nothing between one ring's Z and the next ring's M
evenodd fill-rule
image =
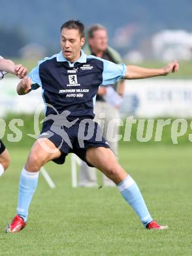
M102 85L110 85L125 78L127 67L125 64L114 64L108 60L103 60L103 83Z

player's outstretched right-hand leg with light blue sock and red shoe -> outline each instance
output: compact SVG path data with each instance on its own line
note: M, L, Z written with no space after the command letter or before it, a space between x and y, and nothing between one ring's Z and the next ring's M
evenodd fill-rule
M153 223L153 219L146 207L142 194L136 182L118 163L113 152L109 148L90 147L86 152L86 160L91 165L100 169L104 175L116 183L123 198L136 211L142 224L148 228L148 224ZM167 228L167 226L158 225L155 229L164 228Z

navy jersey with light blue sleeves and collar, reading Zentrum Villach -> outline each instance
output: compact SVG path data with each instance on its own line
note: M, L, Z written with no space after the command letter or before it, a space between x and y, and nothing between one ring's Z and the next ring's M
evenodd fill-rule
M116 83L125 77L125 72L125 64L114 64L86 55L83 51L80 58L73 63L66 60L60 52L40 61L29 77L33 84L32 89L42 87L44 102L54 107L46 105L46 116L69 110L71 119L92 119L99 86Z

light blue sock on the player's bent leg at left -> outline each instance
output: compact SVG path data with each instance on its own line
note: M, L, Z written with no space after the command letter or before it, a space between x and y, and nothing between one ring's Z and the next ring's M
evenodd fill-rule
M27 221L29 205L37 188L39 172L30 173L23 169L20 177L17 214Z

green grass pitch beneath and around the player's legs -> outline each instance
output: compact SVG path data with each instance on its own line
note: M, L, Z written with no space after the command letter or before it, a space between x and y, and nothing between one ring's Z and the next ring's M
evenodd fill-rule
M116 188L71 188L70 158L48 163L56 183L42 176L27 227L4 229L15 215L27 148L10 148L1 177L0 255L191 255L191 146L120 146L120 163L134 177L155 220L168 230L145 230Z

